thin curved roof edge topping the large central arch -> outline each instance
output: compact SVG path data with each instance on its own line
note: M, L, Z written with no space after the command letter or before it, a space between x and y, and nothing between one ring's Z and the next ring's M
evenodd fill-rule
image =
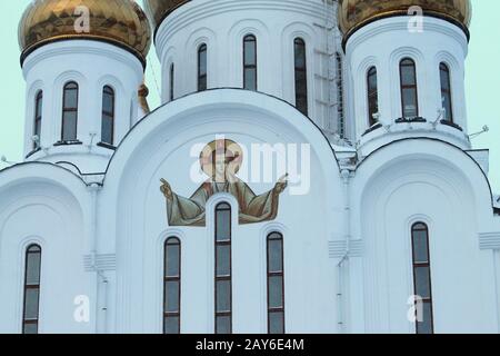
M106 167L106 170L104 170L104 179L102 180L102 185L104 185L106 179L108 178L108 171L109 171L109 168L110 168L110 166L111 166L111 164L112 164L112 161L113 161L113 159L114 159L114 156L119 152L120 147L121 147L122 145L124 145L123 142L127 140L127 138L128 138L130 135L132 135L132 134L134 132L134 130L137 129L137 127L139 127L139 126L142 123L142 121L147 120L152 113L159 111L160 109L162 109L162 108L164 108L164 107L168 107L169 105L171 105L171 103L173 103L173 102L178 102L179 100L182 100L182 99L186 99L186 98L190 98L190 97L194 97L194 96L201 95L201 93L203 93L203 92L208 92L208 91L217 91L217 90L238 90L238 91L241 91L241 92L251 92L251 93L263 95L263 96L266 96L266 97L269 97L269 98L272 98L272 99L277 99L277 100L279 100L279 101L281 101L281 102L288 105L289 107L293 108L298 113L300 113L302 117L304 117L306 119L308 119L309 122L312 123L313 127L321 134L321 136L324 138L324 141L327 142L327 145L328 145L330 151L332 152L332 156L333 156L333 158L334 158L334 160L336 160L336 162L337 162L337 167L339 168L339 171L341 170L341 169L340 169L339 159L337 158L336 150L333 149L333 147L331 146L330 141L328 140L328 138L327 138L327 136L323 134L323 131L320 129L320 127L319 127L319 126L318 126L310 117L308 117L308 116L303 115L302 112L300 112L299 110L297 110L297 108L296 108L294 106L292 106L290 102L286 101L284 99L278 98L278 97L276 97L276 96L273 96L273 95L266 93L266 92L261 92L261 91L250 91L250 90L247 90L247 89L242 89L242 88L233 88L233 87L221 87L221 88L211 88L211 89L207 89L207 90L203 90L203 91L201 91L201 92L199 92L199 91L197 91L197 92L191 92L191 93L184 95L184 96L182 96L182 97L179 97L179 98L177 98L177 99L174 99L174 100L172 100L172 101L169 101L169 102L166 102L166 103L159 106L158 108L156 108L154 110L152 110L151 112L149 112L147 116L144 116L142 119L140 119L139 121L137 121L137 122L132 126L132 128L127 132L127 135L123 137L123 139L120 141L120 144L118 144L118 146L117 146L117 148L116 148L113 155L112 155L111 158L109 159L108 166Z

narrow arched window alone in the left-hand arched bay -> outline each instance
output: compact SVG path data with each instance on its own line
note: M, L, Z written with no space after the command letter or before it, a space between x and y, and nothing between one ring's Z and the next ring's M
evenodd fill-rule
M40 246L31 245L27 248L24 266L24 306L22 314L22 333L38 334L41 273Z

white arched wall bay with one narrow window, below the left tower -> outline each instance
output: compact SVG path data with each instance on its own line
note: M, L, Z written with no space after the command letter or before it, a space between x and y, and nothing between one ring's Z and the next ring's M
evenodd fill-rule
M42 333L91 333L72 322L76 296L92 296L91 274L83 268L90 253L90 201L86 184L51 164L21 164L0 172L0 330L21 330L24 253L42 248ZM87 222L87 224L86 224Z

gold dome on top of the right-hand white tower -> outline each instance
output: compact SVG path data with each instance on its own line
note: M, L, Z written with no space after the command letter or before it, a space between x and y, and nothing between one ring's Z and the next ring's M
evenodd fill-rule
M339 26L346 38L374 20L406 16L412 6L423 13L451 21L467 34L472 14L470 0L340 0Z

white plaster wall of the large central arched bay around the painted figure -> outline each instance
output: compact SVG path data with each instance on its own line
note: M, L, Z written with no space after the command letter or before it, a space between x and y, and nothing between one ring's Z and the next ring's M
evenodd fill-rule
M212 225L169 228L159 187L160 178L166 178L177 192L189 197L199 187L189 178L191 166L198 165L198 157L190 156L191 147L226 135L247 146L313 142L310 192L283 194L274 222L239 226L234 221L234 332L266 332L264 239L266 231L277 229L284 235L287 332L334 333L336 283L328 240L340 234L340 215L333 214L340 210L340 185L334 156L319 130L282 101L244 90L208 91L176 100L136 130L113 157L102 195L104 210L117 212L116 226L108 226L104 234L117 236L117 332L161 332L161 251L172 235L183 244L182 332L213 332ZM262 194L273 184L250 186ZM224 197L209 202L209 210L220 198ZM237 211L234 199L229 201Z

